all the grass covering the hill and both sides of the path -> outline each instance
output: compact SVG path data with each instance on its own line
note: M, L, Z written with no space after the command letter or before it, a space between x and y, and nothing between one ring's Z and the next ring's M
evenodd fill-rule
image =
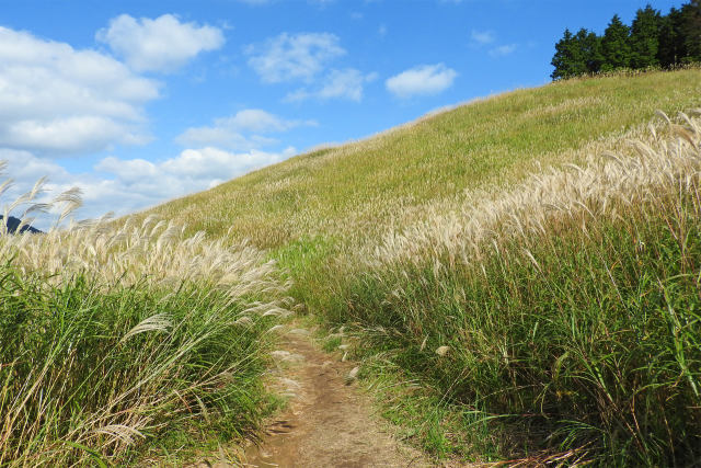
M27 298L1 303L13 304L5 316L21 311L8 336L73 350L37 330L76 323L53 335L84 330L111 351L87 361L108 369L105 379L77 368L70 385L56 377L74 365L70 353L56 363L34 347L3 351L0 408L18 416L2 427L2 453L18 464L129 459L131 441L179 425L159 412L171 408L191 421L243 414L229 432L245 431L261 402L233 388L258 385L263 316L286 315L291 295L336 332L329 347L356 344L383 413L438 457L698 463L700 96L698 68L517 90L292 158L127 225L3 240L11 286L0 294ZM71 249L82 262L67 262ZM49 320L67 298L85 307ZM193 333L211 340L205 362L180 351ZM133 339L145 346L119 345ZM128 362L143 365L127 366L125 379ZM20 372L42 384L14 384ZM153 390L133 390L142 379ZM45 403L39 385L59 403ZM212 385L223 396L203 399ZM112 403L137 393L148 410L138 398L125 407ZM51 424L19 424L27 411ZM97 455L85 449L95 445Z

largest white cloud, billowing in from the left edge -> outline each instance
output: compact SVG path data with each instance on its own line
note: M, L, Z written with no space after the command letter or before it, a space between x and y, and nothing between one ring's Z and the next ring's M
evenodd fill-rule
M142 105L159 83L94 50L0 26L0 148L97 151L148 139Z

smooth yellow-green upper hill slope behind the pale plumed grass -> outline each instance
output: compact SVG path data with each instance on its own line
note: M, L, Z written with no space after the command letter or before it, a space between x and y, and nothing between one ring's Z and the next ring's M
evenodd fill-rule
M479 100L382 135L291 158L148 213L277 248L366 238L407 208L581 159L588 144L698 105L701 70L556 82Z

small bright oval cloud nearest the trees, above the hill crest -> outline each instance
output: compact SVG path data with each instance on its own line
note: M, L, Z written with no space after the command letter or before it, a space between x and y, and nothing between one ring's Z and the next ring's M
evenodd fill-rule
M387 90L399 98L437 94L452 85L458 73L444 64L420 65L389 78Z

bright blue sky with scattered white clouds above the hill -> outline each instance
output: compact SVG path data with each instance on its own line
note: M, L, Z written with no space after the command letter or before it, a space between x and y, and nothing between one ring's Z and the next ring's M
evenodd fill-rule
M667 12L680 1L652 1ZM0 1L15 185L130 213L432 110L548 82L565 27L643 1ZM48 196L48 195L47 195ZM1 203L2 205L3 203Z

